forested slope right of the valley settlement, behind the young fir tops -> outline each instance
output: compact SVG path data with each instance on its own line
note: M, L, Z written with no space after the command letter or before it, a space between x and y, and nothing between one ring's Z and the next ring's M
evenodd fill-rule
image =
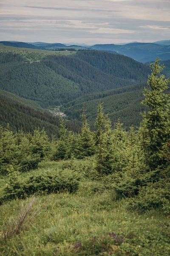
M94 128L94 120L96 119L96 109L101 99L105 113L111 118L111 123L114 125L118 118L124 124L125 128L130 125L139 127L142 120L141 112L146 108L140 104L143 99L143 90L147 84L135 84L119 89L108 90L106 92L94 93L75 99L63 106L63 111L71 119L80 119L82 113L82 102L87 110L87 118Z

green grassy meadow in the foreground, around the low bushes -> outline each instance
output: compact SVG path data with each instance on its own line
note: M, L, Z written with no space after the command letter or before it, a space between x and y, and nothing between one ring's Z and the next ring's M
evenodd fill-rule
M67 165L67 161L40 163L36 173ZM85 160L75 161L75 166L83 165ZM0 255L170 255L169 219L155 210L144 215L127 211L126 200L115 202L111 189L103 186L101 181L83 178L74 194L37 196L30 216L37 205L39 214L17 235L0 239ZM0 206L1 234L8 229L11 218L18 219L28 200L17 199Z

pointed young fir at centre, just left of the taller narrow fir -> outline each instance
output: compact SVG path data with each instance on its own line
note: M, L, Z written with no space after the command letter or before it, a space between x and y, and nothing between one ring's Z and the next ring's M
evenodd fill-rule
M84 158L94 155L96 150L95 141L90 126L85 116L85 109L82 110L82 131L77 136L77 146L75 148L75 157Z

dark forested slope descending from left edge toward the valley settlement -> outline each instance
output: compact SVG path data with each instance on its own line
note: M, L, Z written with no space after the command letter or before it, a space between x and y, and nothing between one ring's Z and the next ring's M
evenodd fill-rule
M32 132L39 127L45 128L49 137L59 136L58 116L45 111L36 102L0 90L0 125L6 127L8 124L12 131ZM66 126L71 131L79 130L77 122L67 121Z

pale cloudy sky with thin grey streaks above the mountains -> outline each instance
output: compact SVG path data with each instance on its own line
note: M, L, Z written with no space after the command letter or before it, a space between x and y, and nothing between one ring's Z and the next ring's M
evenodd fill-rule
M170 40L170 0L0 0L0 41Z

